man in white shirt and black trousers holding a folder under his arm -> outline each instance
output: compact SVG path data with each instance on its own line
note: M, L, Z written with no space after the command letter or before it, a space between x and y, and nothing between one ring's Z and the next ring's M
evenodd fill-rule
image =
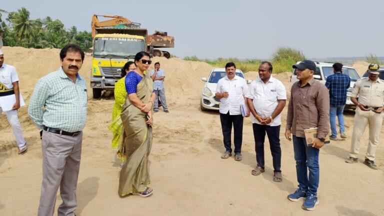
M233 124L234 159L241 160L242 122L241 104L245 104L244 95L248 85L244 78L236 75L236 65L228 62L225 65L226 76L217 82L215 96L220 98L220 121L225 152L221 158L226 159L232 155L231 130ZM249 109L248 109L249 110ZM246 117L249 116L249 111Z

